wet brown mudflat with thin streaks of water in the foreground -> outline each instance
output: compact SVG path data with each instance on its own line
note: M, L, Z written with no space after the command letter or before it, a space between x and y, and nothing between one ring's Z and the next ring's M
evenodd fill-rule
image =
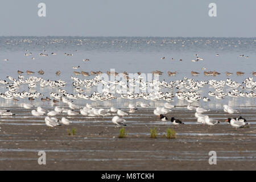
M196 123L195 111L175 109L169 122L159 122L152 109L139 109L125 117L126 138L112 117L72 117L69 126L50 129L44 117L32 117L31 110L10 108L15 117L0 118L0 170L255 170L256 112L242 110L250 127L234 129L228 123L209 128ZM206 113L224 122L229 117L221 110ZM26 117L26 118L24 118ZM67 117L59 115L56 118ZM185 125L175 128L176 139L164 137L174 128L170 118ZM156 127L157 138L150 138ZM67 130L77 129L74 136ZM38 164L38 151L46 152L46 165ZM210 165L209 151L217 152L217 164Z

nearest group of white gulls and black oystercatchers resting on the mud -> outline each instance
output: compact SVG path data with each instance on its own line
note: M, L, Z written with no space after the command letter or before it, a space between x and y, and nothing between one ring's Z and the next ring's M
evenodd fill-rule
M82 115L84 117L109 117L113 116L112 122L115 124L115 126L123 125L126 126L125 122L126 120L123 117L126 117L129 115L129 113L134 113L136 110L138 110L138 107L149 107L150 105L143 104L142 102L139 105L129 104L128 113L125 111L122 111L121 109L117 109L114 107L110 107L110 109L102 109L102 108L96 108L93 107L90 104L86 104L84 107L81 107L79 105L75 105L72 103L71 100L68 100L67 98L63 98L63 103L67 105L69 108L59 107L55 106L53 110L46 110L42 107L38 106L36 109L34 109L32 104L29 103L23 103L20 104L20 107L23 107L24 109L31 110L31 114L34 117L45 117L44 121L46 123L46 126L48 127L55 127L59 125L69 125L69 123L72 123L72 121L69 121L69 119L62 117L61 119L57 119L56 116L60 116L63 114L68 115L68 117L76 116L76 115ZM232 109L232 107L228 105L224 105L224 111L229 114L237 113L236 110ZM170 113L174 109L175 106L169 104L168 102L164 103L163 106L156 107L154 110L154 115L158 115L160 118L160 121L167 122L168 118L164 115L167 113ZM209 125L210 127L216 125L217 123L220 123L217 119L209 118L208 115L204 115L203 113L210 111L208 109L203 109L201 107L196 106L187 106L188 110L195 110L195 117L197 118L197 122L203 124L203 126ZM77 110L77 111L75 111ZM3 117L11 117L15 114L11 113L10 110L0 110L0 115ZM180 121L180 119L176 119L174 117L171 117L171 123L175 126L177 125L184 125L183 122ZM239 118L228 118L226 119L226 122L229 122L231 126L233 127L245 127L246 125L250 125L250 123L247 123L246 119L242 118L241 116Z

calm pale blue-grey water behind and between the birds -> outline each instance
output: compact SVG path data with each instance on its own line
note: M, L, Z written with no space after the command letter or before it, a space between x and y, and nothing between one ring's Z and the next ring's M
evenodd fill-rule
M226 71L233 73L242 71L245 72L244 76L234 74L229 77L234 81L242 82L245 78L252 77L252 71L256 71L255 50L256 38L0 37L0 79L6 80L6 76L18 77L18 69L24 72L27 69L35 72L43 69L44 75L41 76L36 73L35 76L47 80L61 78L68 82L64 89L73 92L70 78L73 71L106 72L113 68L118 73L123 71L127 73L151 73L157 69L164 72L163 76L160 76L160 80L166 81L181 79L184 76L191 78L191 71L200 72L199 76L193 77L195 80L222 80L226 79ZM29 52L32 55L24 56L25 53ZM57 53L57 55L51 55L52 52ZM48 54L48 56L40 57L39 53ZM64 53L73 54L73 56L65 56ZM196 53L204 60L193 63L191 60L196 58ZM216 53L219 56L216 56ZM244 56L239 57L239 55ZM163 56L166 59L162 60L161 57ZM249 59L246 59L245 56L249 56ZM32 57L35 60L32 60ZM172 58L174 61L171 60ZM3 61L3 59L9 59L9 61ZM90 61L84 62L82 59L90 59ZM78 65L80 69L72 69ZM217 71L221 75L206 77L201 69L203 67L207 68L206 71ZM55 75L58 70L61 71L60 77ZM169 77L168 71L177 71L177 75ZM23 75L27 77L27 74ZM77 77L85 78L83 76ZM4 86L0 85L0 92L6 90ZM19 91L23 90L27 91L28 88L21 87ZM39 92L48 96L52 90L57 92L57 89L51 88L39 89ZM177 92L176 89L164 91ZM227 91L224 90L224 92ZM250 91L250 89L246 89L243 92ZM208 90L201 91L202 96L209 97L207 92ZM0 99L0 102L3 100ZM212 102L208 102L207 105L220 108L223 103L231 106L256 106L255 98L229 98L229 100L221 101L212 98ZM8 102L8 104L10 103ZM186 105L187 101L176 102L175 100L175 104ZM203 105L203 102L200 104Z

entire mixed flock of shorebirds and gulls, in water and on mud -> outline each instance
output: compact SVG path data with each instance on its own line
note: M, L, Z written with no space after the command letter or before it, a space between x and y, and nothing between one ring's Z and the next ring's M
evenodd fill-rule
M26 53L25 56L29 56L32 53ZM52 55L56 55L56 53L51 53ZM72 56L72 54L65 53L65 56ZM44 53L40 53L40 56L48 56ZM216 55L218 56L218 54ZM240 55L240 57L243 57L243 55ZM249 58L249 57L246 57ZM32 57L33 59L33 57ZM162 57L162 59L165 59L165 57ZM172 59L174 60L174 59ZM196 54L196 59L193 59L193 62L202 61L203 58L198 57L198 54ZM5 61L8 61L5 59ZM82 61L89 61L89 59L84 59ZM179 61L182 61L180 59ZM80 69L80 66L73 67L73 69ZM206 69L206 68L202 68ZM174 80L174 81L160 81L160 80L151 80L146 81L143 77L141 72L135 73L136 77L130 78L128 73L125 71L121 73L123 77L126 78L126 81L118 81L118 80L104 80L102 78L102 72L97 71L90 73L88 72L77 72L74 71L73 73L77 75L83 75L85 77L87 76L94 76L93 78L89 79L81 79L79 77L73 77L71 76L72 80L72 87L73 87L73 93L68 93L64 88L67 84L66 81L63 81L61 79L58 80L46 80L42 77L35 76L34 71L26 71L27 75L33 75L29 76L28 78L25 78L22 74L24 72L18 70L18 78L14 78L11 76L7 76L6 80L0 80L0 86L4 85L6 89L5 93L0 93L0 98L3 98L4 100L13 100L14 102L18 102L19 100L22 100L22 104L19 104L20 107L23 107L24 109L31 110L31 114L34 117L45 117L46 125L49 127L55 127L58 125L69 125L69 123L72 123L72 121L69 121L67 118L62 117L61 119L57 119L56 116L60 116L61 114L67 114L68 117L72 117L75 115L83 115L84 117L106 117L106 116L113 116L112 122L115 125L125 125L126 120L123 117L126 117L129 115L129 113L135 113L135 111L138 110L138 107L146 108L150 107L150 105L144 103L143 101L165 101L163 106L156 107L154 109L153 113L154 115L158 115L160 120L163 122L168 121L168 118L164 115L171 112L171 109L174 109L175 106L169 104L169 102L174 101L174 98L177 98L177 100L184 100L188 102L187 109L188 110L195 110L195 117L197 118L197 122L202 123L203 125L209 125L214 126L217 123L220 123L220 121L217 121L216 119L209 118L208 115L204 115L203 113L209 111L207 109L203 109L201 107L193 106L192 104L195 102L199 102L200 100L203 100L204 102L209 102L212 99L216 100L222 100L226 96L228 97L246 97L246 98L255 98L256 93L254 93L253 90L256 89L256 82L254 81L253 77L246 78L242 83L236 82L231 80L230 78L226 78L226 80L206 80L206 81L197 81L193 78L187 78L183 77L181 80ZM41 69L38 71L39 75L44 75L44 71ZM152 72L154 75L162 75L163 72L160 71L154 71ZM177 72L168 72L169 76L175 76ZM117 72L108 71L108 75L114 75L117 76ZM199 75L198 72L191 72L192 76ZM231 76L233 73L226 72L227 76ZM237 72L237 75L243 75L243 72ZM60 75L60 71L56 72L56 75ZM220 73L216 71L204 71L205 76L217 76L220 75ZM256 76L256 72L253 72L253 75ZM27 87L28 91L20 89ZM37 92L36 88L40 86L40 89L44 88L52 88L52 92L49 93L49 96L46 98L43 98L43 94ZM104 86L104 89L97 90L98 92L93 92L90 94L86 94L88 91L87 89L92 88L93 86L100 87ZM208 86L209 89L214 89L214 91L209 91L208 96L212 98L208 98L208 96L203 96L201 92L199 92L202 88ZM55 89L57 88L57 89ZM161 92L161 89L167 89L168 92ZM175 92L174 90L177 90ZM246 92L246 89L250 90L250 92ZM58 90L56 92L56 90ZM226 92L225 92L226 90ZM96 108L93 107L90 104L86 104L84 107L80 105L74 104L73 101L75 100L90 100L90 101L106 101L106 100L115 100L117 98L122 98L125 100L143 100L139 102L138 105L129 104L128 109L129 111L126 113L125 111L121 109L117 109L114 107L110 107L109 109L102 109L102 108ZM42 107L35 108L32 104L32 102L36 99L41 100L41 102L50 102L52 106L55 106L52 110L46 110ZM26 102L26 99L31 101L30 103ZM65 106L68 107L60 107L56 106L56 104L59 104L62 102ZM224 105L224 111L233 114L236 111L233 110L230 106ZM11 113L10 110L0 110L0 115L3 117L10 117L15 114ZM171 123L175 126L184 124L180 121L180 119L176 119L174 117L171 117ZM239 118L228 118L226 122L229 122L230 125L233 127L243 127L245 125L249 125L249 123L246 122L246 119L239 117Z

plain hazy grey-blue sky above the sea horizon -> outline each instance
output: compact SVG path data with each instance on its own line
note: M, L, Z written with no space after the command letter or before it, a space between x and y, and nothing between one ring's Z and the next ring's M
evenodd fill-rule
M46 17L38 4L46 4ZM209 3L217 16L210 17ZM255 0L1 0L0 36L256 37Z

